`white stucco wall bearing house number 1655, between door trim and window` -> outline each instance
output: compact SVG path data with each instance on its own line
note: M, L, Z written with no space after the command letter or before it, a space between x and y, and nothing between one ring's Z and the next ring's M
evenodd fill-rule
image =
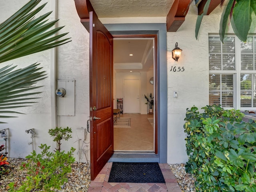
M222 9L217 7L209 16L204 16L198 40L195 38L197 8L190 6L185 22L177 32L167 32L168 72L168 160L170 164L186 162L184 118L186 108L193 105L199 109L209 103L209 58L208 34L218 34ZM230 31L232 33L232 29ZM178 42L182 49L178 62L172 59L172 49ZM184 67L184 72L174 72L174 66ZM173 92L178 93L174 98Z

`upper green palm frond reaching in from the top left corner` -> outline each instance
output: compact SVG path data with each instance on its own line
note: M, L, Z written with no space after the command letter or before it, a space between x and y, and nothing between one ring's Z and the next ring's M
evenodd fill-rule
M70 42L70 38L58 40L68 33L52 37L63 27L50 30L58 22L46 22L45 19L51 12L34 18L46 5L45 3L33 10L40 2L41 0L30 0L0 24L0 63Z

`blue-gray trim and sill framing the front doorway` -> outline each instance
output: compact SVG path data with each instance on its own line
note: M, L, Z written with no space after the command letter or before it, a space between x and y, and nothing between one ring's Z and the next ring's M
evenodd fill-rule
M110 33L158 34L158 154L114 154L110 161L167 162L167 43L166 24L104 24Z

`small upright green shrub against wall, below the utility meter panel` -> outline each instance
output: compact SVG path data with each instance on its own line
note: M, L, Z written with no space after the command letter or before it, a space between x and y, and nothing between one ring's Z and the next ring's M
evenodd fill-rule
M58 150L58 152L60 152L60 145L61 145L60 140L64 139L67 141L69 138L72 138L72 136L68 134L68 133L72 133L72 130L71 128L68 128L68 127L66 128L56 127L55 129L50 129L48 133L50 134L51 137L54 137L53 141L57 142L58 149L56 148L55 149Z

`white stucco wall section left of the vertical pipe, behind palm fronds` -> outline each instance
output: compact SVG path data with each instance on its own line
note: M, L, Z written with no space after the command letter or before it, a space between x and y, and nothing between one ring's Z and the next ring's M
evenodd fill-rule
M10 17L19 8L24 6L27 0L3 0L0 6L0 22L3 22ZM50 5L46 6L44 12L50 10ZM0 67L6 66L7 64L18 65L17 68L22 68L33 64L35 62L40 63L43 70L47 71L48 78L38 82L38 86L44 86L38 91L42 91L41 94L36 96L41 97L37 99L38 103L33 104L31 107L19 108L18 112L25 114L17 115L18 118L7 118L1 119L1 121L8 122L8 124L0 124L0 130L9 128L8 134L8 156L10 157L25 157L32 152L32 145L28 145L31 142L30 134L27 134L25 130L34 128L36 137L34 138L34 148L38 151L38 147L41 143L52 145L52 139L46 136L48 129L51 128L51 102L50 102L50 63L51 63L50 50L36 53L32 56L26 56L23 58L11 60L0 64ZM0 143L5 144L3 138L0 138Z

